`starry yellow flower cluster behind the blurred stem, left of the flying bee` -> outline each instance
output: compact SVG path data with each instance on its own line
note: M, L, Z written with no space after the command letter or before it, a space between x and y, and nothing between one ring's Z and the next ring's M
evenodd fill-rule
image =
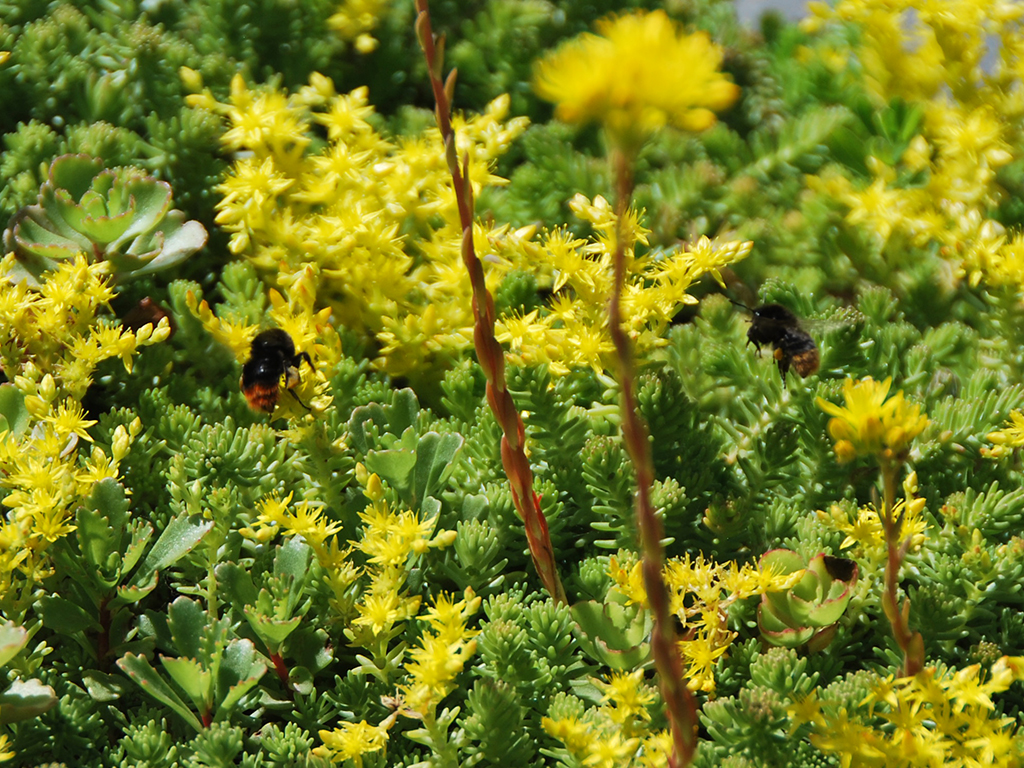
M495 335L507 345L509 358L520 365L547 364L556 375L574 368L601 374L614 368L607 301L613 282L616 216L601 197L590 201L577 195L569 207L593 226L595 239L579 240L563 229L548 232L541 243L553 271L547 307L499 318ZM701 237L680 249L638 256L635 246L646 245L647 232L637 212L628 211L621 226L626 249L623 326L640 359L665 345L663 334L679 309L696 303L687 293L690 286L703 274L721 281L719 269L745 257L754 246L750 241L718 243ZM516 268L526 266L522 254L509 258Z

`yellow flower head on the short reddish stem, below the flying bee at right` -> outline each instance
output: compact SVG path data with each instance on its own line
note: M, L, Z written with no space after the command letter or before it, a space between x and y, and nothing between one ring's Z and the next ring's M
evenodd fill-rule
M845 408L817 398L818 408L835 417L828 421L828 434L836 441L840 463L858 456L897 460L928 426L921 407L907 402L902 391L886 399L891 383L892 379L877 382L871 377L847 379L843 385Z

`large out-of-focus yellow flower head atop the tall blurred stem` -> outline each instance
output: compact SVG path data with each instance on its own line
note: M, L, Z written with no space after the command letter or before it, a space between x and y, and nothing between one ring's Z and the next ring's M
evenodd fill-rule
M543 59L535 88L569 123L599 120L612 142L635 148L671 124L703 130L739 88L718 71L722 50L685 34L660 10L606 18Z

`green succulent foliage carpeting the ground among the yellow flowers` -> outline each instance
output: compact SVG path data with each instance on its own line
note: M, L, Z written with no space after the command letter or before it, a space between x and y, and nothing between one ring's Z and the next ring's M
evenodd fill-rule
M495 169L510 183L481 195L478 216L583 233L568 202L578 193L611 199L606 147L593 128L550 120L529 85L534 60L605 13L665 4L431 5L435 31L447 35L447 65L459 68L457 110L508 92L513 114L535 121ZM715 665L715 693L695 693L695 765L839 766L813 746L808 728L794 727L791 708L813 692L853 712L902 658L881 608L881 561L834 524L877 507L877 467L837 461L818 400L841 402L848 378L891 378L893 391L928 414L930 426L901 457L916 472L928 527L908 545L898 587L928 666L1022 654L1024 473L1019 451L994 455L988 434L1024 406L1024 308L1014 290L953 274L937 245L883 248L878 232L848 220L829 178L864 180L881 162L905 188L925 183L902 159L926 111L896 98L877 103L857 71L827 66L820 50L845 42L840 33L769 19L759 38L728 3L669 6L728 46L725 67L742 96L713 129L666 131L640 153L635 203L652 231L639 255L656 260L657 249L701 233L754 240L752 255L723 270L728 297L791 308L820 366L783 383L771 355L748 344L749 313L714 285L697 287L699 305L638 361L651 500L669 558L750 564L790 551L790 570L809 566L805 582L769 595L761 624L770 613L769 631L792 634L792 646L822 630L831 637L816 653L768 647L758 600L723 610L731 645ZM0 50L11 54L0 65L0 216L16 214L11 247L36 259L34 279L80 248L110 259L138 280L119 286L102 323L127 326L147 300L175 328L130 371L116 359L96 369L83 399L83 418L95 423L60 450L85 457L94 446L110 457L119 435L133 439L68 510L38 585L4 595L0 666L9 682L0 724L20 764L311 768L326 765L312 753L321 730L366 721L393 723L387 754L364 755L367 768L575 766L544 719L596 717L603 693L595 681L650 663L650 614L615 587L610 568L612 555L622 566L638 549L613 378L506 370L569 595L569 605L557 605L541 590L502 432L471 356L433 372L436 387L392 381L373 369L379 350L329 317L344 351L316 366L330 406L271 422L239 390L237 355L189 310L205 297L225 323L267 327L278 307L251 264L227 262L226 236L213 224L222 125L184 104L181 68L219 99L237 72L293 93L313 72L339 91L368 85L374 125L395 142L431 120L413 4L387 4L372 30L377 47L361 52L330 29L337 9L334 0L0 0ZM81 158L54 163L61 155L144 176L132 181ZM1008 226L1024 220L1022 173L1020 163L998 171L993 215ZM160 223L171 188L175 205L212 233L209 252L182 265L188 279L169 283L135 259L169 266L187 255L170 248L184 216ZM194 237L187 250L199 245ZM305 244L283 247L302 252ZM547 303L551 284L537 275L506 274L495 295L499 316ZM3 351L13 355L16 340ZM32 434L30 426L37 408L0 384L4 439L38 439L42 427ZM368 593L332 582L323 542L260 516L268 500L307 505L305 514L337 530L334 556L345 551L353 578L366 580L384 557L358 549L373 527L374 474L390 508L433 521L437 541L401 571L401 594L416 608L368 647L359 641L369 631L353 624ZM5 501L16 479L0 477ZM20 546L8 542L0 554ZM823 555L856 560L859 581L834 578ZM453 593L483 598L470 622L475 652L436 722L414 721L400 712L396 686L430 632L428 610ZM682 596L682 606L693 599ZM691 628L676 629L691 637ZM1011 689L995 707L1019 718L1024 695ZM650 715L664 725L657 705Z

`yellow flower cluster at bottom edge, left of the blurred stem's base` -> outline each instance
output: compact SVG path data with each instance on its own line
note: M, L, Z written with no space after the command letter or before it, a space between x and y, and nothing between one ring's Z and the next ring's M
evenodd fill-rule
M615 672L596 680L602 692L599 707L582 717L544 718L548 735L561 741L581 765L595 768L662 768L669 764L672 737L651 730L648 708L657 699L643 670Z

